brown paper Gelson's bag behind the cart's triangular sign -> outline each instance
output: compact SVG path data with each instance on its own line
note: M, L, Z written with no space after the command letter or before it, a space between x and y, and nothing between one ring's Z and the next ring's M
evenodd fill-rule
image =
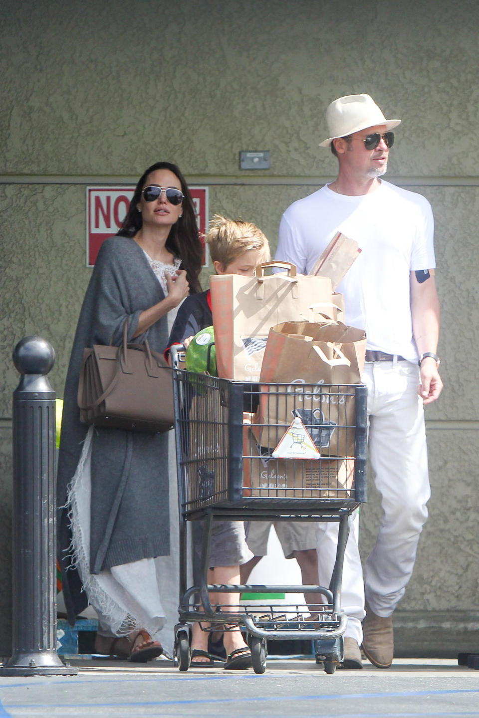
M361 382L365 355L366 332L341 322L272 327L253 426L259 444L276 447L298 416L322 456L353 456L355 398L348 385Z

